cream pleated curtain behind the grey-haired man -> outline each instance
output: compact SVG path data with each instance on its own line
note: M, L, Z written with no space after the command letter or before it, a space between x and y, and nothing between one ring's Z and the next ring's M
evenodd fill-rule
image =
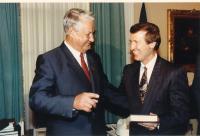
M89 3L21 3L22 63L26 128L32 128L32 112L28 105L30 86L39 54L64 40L63 17L70 8L89 10Z

